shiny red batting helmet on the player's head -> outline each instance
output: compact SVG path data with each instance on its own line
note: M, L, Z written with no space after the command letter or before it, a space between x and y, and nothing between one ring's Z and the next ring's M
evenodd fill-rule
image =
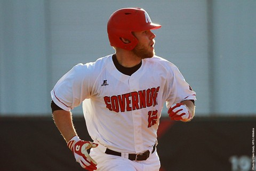
M142 8L122 8L115 11L108 20L108 38L111 46L132 50L138 43L132 31L159 29L161 25L151 22ZM120 38L131 42L125 44Z

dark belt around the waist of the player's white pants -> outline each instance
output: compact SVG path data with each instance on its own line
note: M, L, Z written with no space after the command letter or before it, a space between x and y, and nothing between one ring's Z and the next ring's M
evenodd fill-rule
M156 150L156 144L153 146L153 150L152 150L152 153ZM110 149L106 149L105 151L106 154L108 155L114 155L114 156L122 156L122 153L121 152L117 152L117 151L113 151L113 150L110 150ZM147 150L145 152L142 152L142 153L137 153L137 154L129 154L129 159L130 160L135 160L135 161L142 161L142 160L147 160L149 158L149 155L150 155L150 151Z

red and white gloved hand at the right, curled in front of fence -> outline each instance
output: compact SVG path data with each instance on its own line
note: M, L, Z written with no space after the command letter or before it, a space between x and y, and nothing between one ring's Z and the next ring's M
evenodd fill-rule
M170 109L168 110L168 114L171 117L171 120L174 121L190 121L193 118L193 115L191 114L189 108L182 104L181 102L178 102L177 104L173 104Z

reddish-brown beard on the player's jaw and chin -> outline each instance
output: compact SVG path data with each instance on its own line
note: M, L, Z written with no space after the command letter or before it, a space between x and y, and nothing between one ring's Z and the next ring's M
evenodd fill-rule
M151 50L151 46L145 46L140 44L140 42L132 49L134 55L140 57L141 59L151 58L155 55L155 49Z

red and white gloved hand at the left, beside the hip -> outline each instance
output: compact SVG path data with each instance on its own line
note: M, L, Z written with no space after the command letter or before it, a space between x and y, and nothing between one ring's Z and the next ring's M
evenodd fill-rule
M91 158L87 150L97 146L96 143L80 140L78 136L74 136L68 142L68 148L73 151L76 161L89 171L96 170L97 163Z

